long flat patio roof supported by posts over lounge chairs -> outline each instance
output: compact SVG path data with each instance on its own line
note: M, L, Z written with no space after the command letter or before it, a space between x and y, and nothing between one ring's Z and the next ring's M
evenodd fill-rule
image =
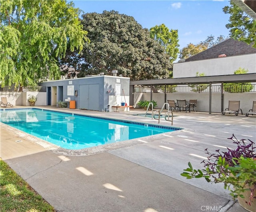
M184 77L130 81L130 85L168 85L168 84L210 84L210 83L256 82L256 73L241 75L218 75L205 77Z

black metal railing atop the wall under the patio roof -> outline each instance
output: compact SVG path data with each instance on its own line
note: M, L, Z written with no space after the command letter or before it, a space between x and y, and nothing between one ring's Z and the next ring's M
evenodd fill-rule
M164 86L152 86L153 93L164 93ZM224 92L229 93L244 93L244 92L256 92L256 84L224 84ZM208 84L194 84L194 85L167 85L166 93L207 93L210 91ZM134 86L135 93L148 93L151 92L150 86ZM212 92L221 92L221 85L212 85Z

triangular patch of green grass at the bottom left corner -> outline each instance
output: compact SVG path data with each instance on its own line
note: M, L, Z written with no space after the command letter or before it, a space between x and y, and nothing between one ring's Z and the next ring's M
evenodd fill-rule
M0 208L1 212L30 211L55 212L26 181L18 176L0 158Z

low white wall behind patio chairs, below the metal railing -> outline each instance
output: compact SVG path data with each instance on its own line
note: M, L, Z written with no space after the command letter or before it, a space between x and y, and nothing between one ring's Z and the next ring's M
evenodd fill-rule
M134 100L140 93L134 93ZM209 112L209 93L167 93L167 100L177 99L197 99L196 111ZM150 100L150 93L143 93L140 100ZM152 93L152 100L157 102L156 109L161 109L164 102L164 93ZM256 101L256 93L224 93L223 96L223 109L228 108L228 100L240 100L240 108L243 113L252 109L252 102ZM140 106L135 106L140 108ZM221 111L221 93L212 93L212 112L220 113Z

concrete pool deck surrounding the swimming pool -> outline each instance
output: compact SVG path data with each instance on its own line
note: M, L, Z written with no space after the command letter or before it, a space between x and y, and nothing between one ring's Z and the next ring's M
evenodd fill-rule
M96 112L40 107L114 119L158 124L130 112ZM0 157L57 211L104 212L245 212L220 184L180 176L188 167L201 168L204 149L213 152L228 140L256 141L256 117L174 112L179 130L90 150L65 151L2 123ZM160 125L171 126L160 119ZM86 127L86 126L85 126ZM21 140L21 142L16 142Z

